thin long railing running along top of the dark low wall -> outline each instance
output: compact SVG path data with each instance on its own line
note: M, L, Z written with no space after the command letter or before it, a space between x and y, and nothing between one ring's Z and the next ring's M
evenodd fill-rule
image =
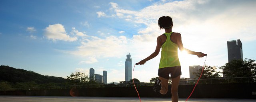
M195 84L198 79L181 78L180 85ZM256 83L256 77L236 77L236 78L208 78L200 79L198 84L229 84L229 83ZM168 84L172 84L169 80ZM136 86L153 86L154 82L135 82ZM71 89L71 88L104 88L104 87L133 87L133 83L122 84L82 84L64 86L44 86L27 88L0 88L0 91L8 90L50 90L50 89Z

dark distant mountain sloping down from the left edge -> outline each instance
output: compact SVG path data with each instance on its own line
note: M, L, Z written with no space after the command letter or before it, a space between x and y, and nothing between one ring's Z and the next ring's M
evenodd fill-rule
M0 81L7 82L36 82L37 84L44 83L65 83L67 79L62 77L54 77L47 75L40 75L33 71L26 71L24 69L15 69L9 66L0 66Z

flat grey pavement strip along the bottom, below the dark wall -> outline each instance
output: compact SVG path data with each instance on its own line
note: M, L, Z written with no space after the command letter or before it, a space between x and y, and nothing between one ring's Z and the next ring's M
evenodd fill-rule
M186 98L179 98L185 102ZM0 96L0 102L140 102L136 97ZM171 102L171 98L141 98L141 102ZM190 98L187 102L256 102L256 99Z

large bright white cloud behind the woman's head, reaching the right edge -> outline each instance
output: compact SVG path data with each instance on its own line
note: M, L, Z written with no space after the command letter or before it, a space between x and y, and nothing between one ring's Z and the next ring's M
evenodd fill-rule
M155 43L156 37L164 32L158 30L157 25L158 18L161 16L173 18L173 31L182 33L184 44L191 46L192 50L193 47L197 47L195 45L221 46L230 39L244 39L245 41L256 39L255 30L252 28L256 26L256 14L251 13L255 10L255 2L239 0L231 4L229 1L218 2L216 0L164 2L156 3L139 11L123 10L118 7L118 4L111 3L110 9L114 10L116 14L123 15L117 16L119 18L124 18L126 15L129 19L124 18L125 20L147 26L138 31L140 35L134 35L132 40ZM226 6L226 4L229 5ZM194 39L198 39L198 36L204 39L195 42ZM212 39L218 39L218 42L212 42ZM195 50L202 49L205 47L197 47Z

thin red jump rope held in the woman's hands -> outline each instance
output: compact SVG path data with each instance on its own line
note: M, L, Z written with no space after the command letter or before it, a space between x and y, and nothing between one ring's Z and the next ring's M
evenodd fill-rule
M204 60L204 64L205 64L205 61L206 61L206 58L207 58L207 54L204 54L204 56L206 56L206 57L205 57L205 60ZM136 63L136 64L137 64L137 63ZM136 65L136 64L135 64L135 65ZM136 92L137 92L137 94L138 94L138 97L139 97L139 99L140 99L140 94L139 94L139 92L138 92L138 90L137 90L137 88L136 88L136 86L135 86L135 84L134 84L134 80L133 80L133 71L134 71L135 65L134 65L133 70L132 70L132 82L133 82L133 85L134 85L134 87L135 87L135 90L136 90ZM200 77L198 78L198 80L197 80L197 82L196 82L196 84L195 84L195 86L194 86L194 88L193 88L191 94L188 96L186 102L188 101L188 99L190 98L190 96L192 95L192 93L194 92L194 90L195 90L195 88L196 88L196 85L198 84L198 82L199 82L199 80L200 80L200 78L201 78L201 76L202 76L202 74L203 74L203 71L204 71L204 65L203 65L203 67L202 67L201 75L200 75ZM140 99L140 102L141 102L141 99Z

